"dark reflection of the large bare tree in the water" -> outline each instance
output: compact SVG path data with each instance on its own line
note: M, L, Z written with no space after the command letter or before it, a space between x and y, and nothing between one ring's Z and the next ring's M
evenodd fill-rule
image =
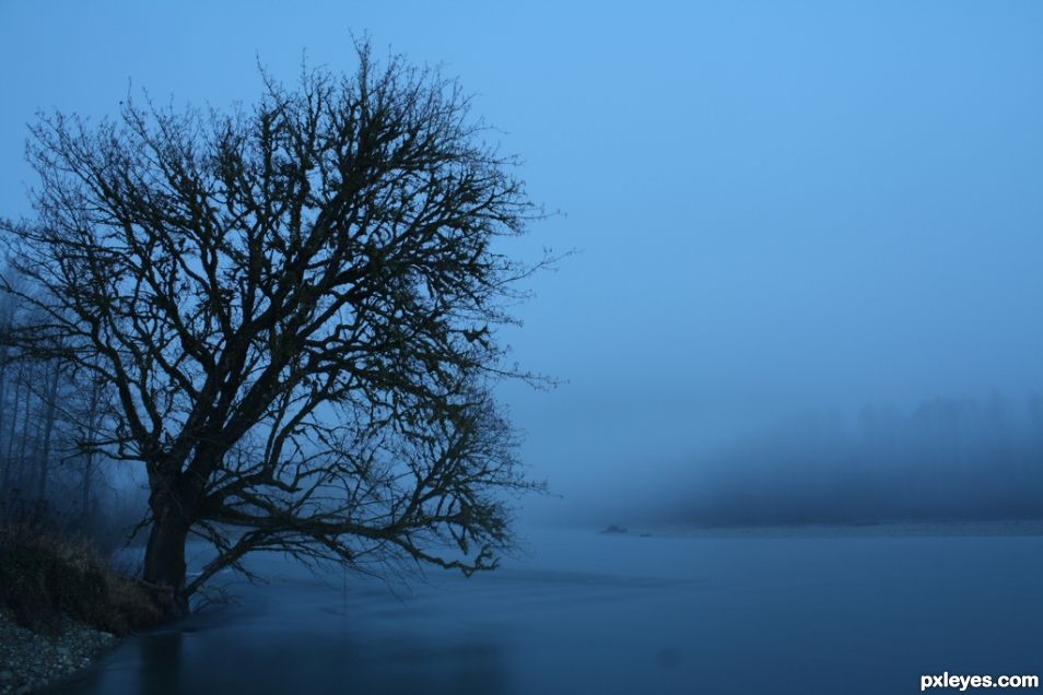
M495 641L440 645L402 637L372 645L320 631L237 629L147 634L102 668L52 693L432 693L511 692Z

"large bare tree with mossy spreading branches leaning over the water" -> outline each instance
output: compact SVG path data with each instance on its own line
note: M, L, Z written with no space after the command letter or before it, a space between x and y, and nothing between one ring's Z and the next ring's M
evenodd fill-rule
M455 81L358 52L232 115L32 129L3 288L45 318L9 342L114 388L82 443L148 471L143 579L175 614L255 551L494 567L503 491L539 487L490 394L530 378L494 331L546 262L494 243L539 210ZM190 534L219 553L187 581Z

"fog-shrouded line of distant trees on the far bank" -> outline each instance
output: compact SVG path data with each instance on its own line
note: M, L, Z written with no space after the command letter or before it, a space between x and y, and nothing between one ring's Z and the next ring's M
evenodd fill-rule
M813 415L693 466L669 513L701 525L1043 518L1043 398Z

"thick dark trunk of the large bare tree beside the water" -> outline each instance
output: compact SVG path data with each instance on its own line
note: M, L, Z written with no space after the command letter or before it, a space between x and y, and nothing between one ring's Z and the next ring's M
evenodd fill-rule
M145 547L144 580L154 589L156 604L166 616L181 617L188 613L185 541L190 525L169 500L153 505L153 515L155 520Z

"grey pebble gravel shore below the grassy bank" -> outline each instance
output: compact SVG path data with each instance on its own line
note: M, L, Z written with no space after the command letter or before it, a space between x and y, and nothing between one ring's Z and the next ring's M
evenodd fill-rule
M0 609L0 695L31 693L68 678L117 641L68 616L54 635L42 635L19 626Z

